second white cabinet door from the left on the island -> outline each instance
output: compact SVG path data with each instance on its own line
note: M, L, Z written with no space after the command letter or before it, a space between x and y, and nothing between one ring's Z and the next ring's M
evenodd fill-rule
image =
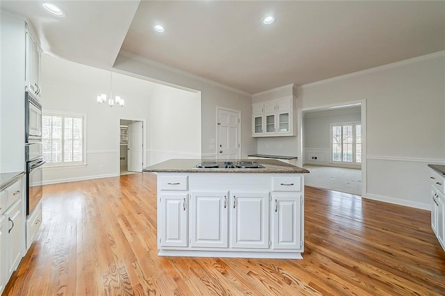
M228 247L228 192L192 192L191 247Z

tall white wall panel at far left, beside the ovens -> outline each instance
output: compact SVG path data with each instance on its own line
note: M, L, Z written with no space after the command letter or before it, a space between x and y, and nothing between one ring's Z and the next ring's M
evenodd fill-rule
M0 172L25 165L25 22L1 13Z

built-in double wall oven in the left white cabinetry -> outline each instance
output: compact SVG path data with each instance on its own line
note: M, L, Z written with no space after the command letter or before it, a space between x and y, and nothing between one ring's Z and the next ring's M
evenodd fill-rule
M42 199L42 104L25 92L26 217Z

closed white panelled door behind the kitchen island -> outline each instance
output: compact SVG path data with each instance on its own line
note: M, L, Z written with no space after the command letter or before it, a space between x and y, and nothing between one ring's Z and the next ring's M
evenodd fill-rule
M241 145L239 139L240 111L224 110L218 108L218 147L216 158L241 158Z

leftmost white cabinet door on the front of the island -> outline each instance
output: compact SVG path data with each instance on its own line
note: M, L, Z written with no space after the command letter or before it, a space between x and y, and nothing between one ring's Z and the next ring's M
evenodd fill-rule
M187 247L187 193L162 193L158 213L158 239L163 247Z

